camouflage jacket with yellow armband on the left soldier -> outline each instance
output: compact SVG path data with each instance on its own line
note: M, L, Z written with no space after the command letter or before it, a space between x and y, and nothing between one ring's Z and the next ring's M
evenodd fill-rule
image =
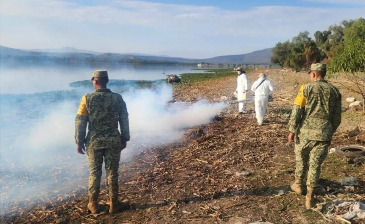
M121 141L129 141L128 112L122 96L110 89L82 96L75 119L75 140L92 149L119 147Z

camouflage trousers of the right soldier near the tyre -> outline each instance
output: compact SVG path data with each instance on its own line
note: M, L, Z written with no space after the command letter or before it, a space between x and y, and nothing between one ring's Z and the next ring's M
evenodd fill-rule
M307 186L315 188L319 180L320 166L326 159L329 141L311 141L297 138L295 143L295 179L303 180L307 175Z

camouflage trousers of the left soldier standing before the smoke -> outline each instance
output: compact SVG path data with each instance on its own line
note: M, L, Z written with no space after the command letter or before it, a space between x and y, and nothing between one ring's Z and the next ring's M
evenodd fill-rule
M87 149L89 165L89 199L97 200L100 193L101 168L105 161L107 188L110 200L118 199L118 169L120 147L112 149Z

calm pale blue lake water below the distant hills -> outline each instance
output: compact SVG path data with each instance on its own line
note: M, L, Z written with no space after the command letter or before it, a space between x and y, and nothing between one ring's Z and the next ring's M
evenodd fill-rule
M156 80L165 79L170 73L181 74L192 71L193 67L138 64L99 65L55 65L34 63L1 63L0 94L20 94L69 90L69 83L91 78L96 69L107 69L110 79ZM194 67L197 68L197 67Z

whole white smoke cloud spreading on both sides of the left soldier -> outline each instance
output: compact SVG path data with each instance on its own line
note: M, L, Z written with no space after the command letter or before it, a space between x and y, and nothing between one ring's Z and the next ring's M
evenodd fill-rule
M212 117L226 107L224 103L208 103L204 100L194 104L178 102L168 106L172 92L172 88L164 84L156 91L141 89L123 95L129 113L131 141L123 150L121 160L130 159L135 151L180 140L186 128L209 123ZM26 125L22 127L21 133L15 132L11 127L0 127L4 129L1 131L17 135L15 141L5 141L0 149L0 152L5 153L0 158L0 179L4 180L0 181L0 189L7 184L18 185L19 173L27 173L29 176L26 182L16 186L16 190L3 191L0 194L1 203L14 198L37 196L41 191L76 187L80 184L80 178L81 183L83 181L84 185L87 184L86 157L77 154L74 143L77 105L78 101L49 105L45 116L25 120ZM1 176L5 173L11 175ZM64 180L65 178L69 180Z

